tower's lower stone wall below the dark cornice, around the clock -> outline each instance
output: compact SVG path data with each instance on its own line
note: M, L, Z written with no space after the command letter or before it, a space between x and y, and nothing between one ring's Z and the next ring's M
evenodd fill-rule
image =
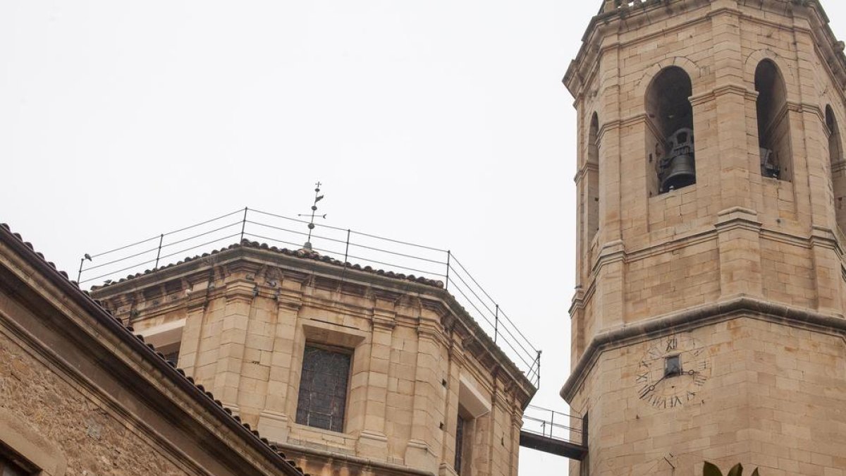
M608 348L591 368L572 402L589 408L591 474L693 476L703 461L743 462L766 476L843 474L843 335L755 316L675 335L703 343L710 367L703 385L685 380L678 392L657 390L678 393L676 407L641 398L638 379L651 347L670 335ZM571 463L571 474L579 469Z

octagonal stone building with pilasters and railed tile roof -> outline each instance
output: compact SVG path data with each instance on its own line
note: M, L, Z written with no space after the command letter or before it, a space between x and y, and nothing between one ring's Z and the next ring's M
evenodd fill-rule
M308 473L517 474L536 389L440 282L243 241L92 293Z

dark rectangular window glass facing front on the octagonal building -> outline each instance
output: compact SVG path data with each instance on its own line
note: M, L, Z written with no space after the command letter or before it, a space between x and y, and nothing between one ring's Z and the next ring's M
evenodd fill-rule
M343 432L350 362L347 352L305 346L297 423Z

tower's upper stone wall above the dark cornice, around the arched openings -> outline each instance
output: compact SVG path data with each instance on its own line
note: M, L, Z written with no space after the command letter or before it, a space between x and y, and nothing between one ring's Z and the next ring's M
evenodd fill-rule
M590 295L592 313L602 316L584 319L603 329L738 293L843 313L837 213L846 191L832 188L825 109L842 118L846 98L842 64L828 58L836 45L818 26L814 3L649 5L592 25L565 78L579 118L576 302L584 308ZM755 68L763 60L776 64L787 87L789 130L777 136L791 144L782 158L789 180L760 172ZM684 69L693 85L696 183L657 194L646 96L668 67ZM602 164L596 238L585 226L594 113ZM737 209L748 212L749 233L718 238L720 214Z

